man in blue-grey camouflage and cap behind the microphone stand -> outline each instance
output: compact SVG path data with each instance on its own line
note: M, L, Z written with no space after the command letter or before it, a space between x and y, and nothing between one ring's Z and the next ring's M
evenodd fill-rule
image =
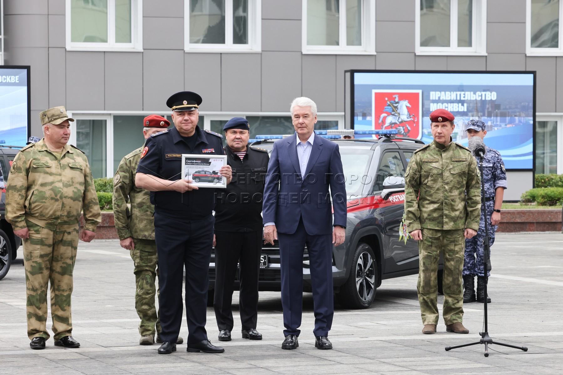
M483 139L487 134L485 123L480 120L469 120L466 125L467 138L480 137ZM485 185L484 197L487 209L486 220L489 223L489 250L494 243L494 234L497 231L498 223L501 222L502 198L506 184L506 170L501 153L493 148L485 146L485 156L483 157L483 183ZM477 159L477 161L480 158ZM463 302L485 302L485 266L483 264L485 238L485 211L481 207L481 222L477 235L465 240L465 256L463 261ZM490 259L490 254L489 254ZM477 295L475 295L475 276L477 276ZM487 276L490 272L487 271ZM487 302L491 299L486 296Z

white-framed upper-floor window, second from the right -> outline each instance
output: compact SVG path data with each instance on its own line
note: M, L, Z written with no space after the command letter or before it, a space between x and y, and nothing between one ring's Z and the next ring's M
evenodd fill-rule
M417 0L417 55L486 55L486 0Z

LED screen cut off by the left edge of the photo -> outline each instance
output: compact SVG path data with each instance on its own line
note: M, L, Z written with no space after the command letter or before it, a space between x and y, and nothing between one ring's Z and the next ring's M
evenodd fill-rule
M25 146L29 129L29 67L0 66L0 146Z

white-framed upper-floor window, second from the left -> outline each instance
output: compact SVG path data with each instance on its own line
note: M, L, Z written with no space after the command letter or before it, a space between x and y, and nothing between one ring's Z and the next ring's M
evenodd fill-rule
M260 52L261 0L184 0L186 52Z

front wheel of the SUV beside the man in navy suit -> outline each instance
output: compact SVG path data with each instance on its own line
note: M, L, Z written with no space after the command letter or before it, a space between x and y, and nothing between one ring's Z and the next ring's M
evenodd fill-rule
M376 289L376 257L367 243L360 242L354 252L350 276L337 294L338 300L347 309L366 309L376 297Z

